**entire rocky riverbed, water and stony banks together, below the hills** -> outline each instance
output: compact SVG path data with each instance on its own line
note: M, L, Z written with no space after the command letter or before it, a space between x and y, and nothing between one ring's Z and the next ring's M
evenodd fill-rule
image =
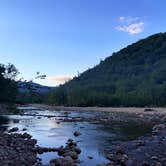
M101 113L97 111L92 114L88 111L82 113L69 110L52 111L36 108L33 111L26 110L20 115L9 116L10 122L7 122L7 124L10 124L10 127L7 130L3 129L0 133L0 162L2 165L166 165L166 118L163 113L147 108L143 110L145 113ZM117 124L120 124L121 127L117 128ZM119 131L126 124L130 128ZM43 132L40 132L42 129L38 127L40 125L44 128ZM46 131L48 125L51 125L51 128ZM64 128L64 125L67 125L67 128ZM142 126L142 130L148 128L148 132L143 133L141 129L138 130L139 125ZM11 126L13 127L11 128ZM36 130L34 130L35 128ZM117 139L117 131L115 132L115 139L113 138L114 130L118 130L120 134L134 132L134 130L138 133L142 132L142 134L138 134L139 137L131 137L131 140L124 139L124 141L122 139L122 141ZM30 134L28 134L29 132ZM63 134L55 137L45 135L46 133L49 135L58 132ZM65 133L68 134L64 135ZM111 141L107 140L109 138ZM44 141L41 142L41 139ZM66 145L64 140L66 140ZM57 144L57 142L59 143ZM97 149L95 149L95 153L93 148L93 150L89 149L89 146L96 145L97 148L102 149L105 160L99 159L99 155L96 153ZM49 157L48 162L43 163L42 156L45 154L46 156L51 154L52 157Z

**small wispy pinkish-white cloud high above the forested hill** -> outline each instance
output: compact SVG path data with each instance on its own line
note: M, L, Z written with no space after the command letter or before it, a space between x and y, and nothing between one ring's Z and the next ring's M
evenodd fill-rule
M127 32L131 35L141 33L144 30L144 22L139 17L119 17L117 30Z

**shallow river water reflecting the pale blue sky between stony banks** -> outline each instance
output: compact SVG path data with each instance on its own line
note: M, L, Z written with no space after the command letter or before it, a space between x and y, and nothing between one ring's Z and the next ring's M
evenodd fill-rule
M95 166L99 163L107 163L104 152L109 149L112 142L118 140L135 139L150 131L150 127L135 123L115 123L112 125L92 123L92 122L64 122L63 118L71 117L93 117L105 115L104 112L79 112L70 111L41 111L37 108L23 107L26 109L23 115L3 115L0 118L1 129L8 130L18 127L23 133L23 128L27 133L37 139L38 145L43 147L60 147L65 145L69 138L78 142L82 153L79 159L80 166ZM60 123L59 123L60 121ZM81 135L74 137L74 131L79 131ZM89 159L92 156L93 159ZM43 165L49 165L49 161L58 157L56 152L44 153L39 156Z

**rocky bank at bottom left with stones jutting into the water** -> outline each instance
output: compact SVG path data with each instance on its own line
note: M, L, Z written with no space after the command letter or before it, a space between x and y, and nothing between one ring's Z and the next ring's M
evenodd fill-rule
M57 152L61 156L52 159L51 166L76 166L80 162L81 149L72 139L68 139L65 147L40 147L30 134L13 134L16 131L18 128L15 127L8 133L0 133L0 163L3 166L41 166L37 155L47 152Z

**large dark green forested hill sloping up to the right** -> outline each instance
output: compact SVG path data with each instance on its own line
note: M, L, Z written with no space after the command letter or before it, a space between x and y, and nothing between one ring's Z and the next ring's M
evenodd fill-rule
M49 102L66 106L166 106L166 33L113 53L51 91Z

